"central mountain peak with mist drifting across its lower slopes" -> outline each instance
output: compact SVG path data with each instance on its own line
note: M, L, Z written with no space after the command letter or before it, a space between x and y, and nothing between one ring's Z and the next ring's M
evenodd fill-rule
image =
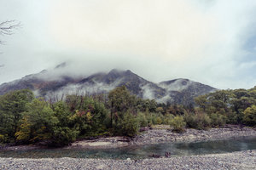
M80 89L89 88L90 90L87 91L93 93L106 93L113 88L125 86L131 94L148 99L157 99L159 94L163 95L166 92L165 89L160 88L155 83L148 82L143 77L139 77L129 70L118 71L113 69L108 74L98 73L84 78L79 84L81 86ZM148 88L151 89L154 95L147 96L146 91Z

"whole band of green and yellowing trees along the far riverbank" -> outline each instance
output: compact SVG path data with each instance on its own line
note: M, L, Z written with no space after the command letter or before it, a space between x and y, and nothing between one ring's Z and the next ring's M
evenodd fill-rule
M0 96L0 143L61 146L76 139L124 135L140 127L170 125L207 129L225 124L256 126L256 87L219 90L195 98L196 105L157 104L131 95L124 86L108 95L67 95L59 100L35 98L28 89Z

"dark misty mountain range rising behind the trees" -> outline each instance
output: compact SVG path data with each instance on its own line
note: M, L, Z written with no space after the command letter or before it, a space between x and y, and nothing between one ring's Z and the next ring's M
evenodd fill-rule
M155 99L159 103L194 104L194 98L202 94L216 91L216 88L193 82L189 79L175 79L166 82L149 82L143 77L127 70L113 69L108 73L96 73L89 77L72 77L64 74L55 74L66 64L57 65L52 71L41 71L13 82L0 85L0 94L12 90L29 88L37 96L61 94L102 94L113 88L125 86L131 92L143 99Z

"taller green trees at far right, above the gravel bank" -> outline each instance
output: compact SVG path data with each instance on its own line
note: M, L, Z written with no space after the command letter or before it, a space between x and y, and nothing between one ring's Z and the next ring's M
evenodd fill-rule
M202 113L212 120L212 126L229 124L256 125L256 87L220 90L195 98ZM207 123L207 117L203 118Z

